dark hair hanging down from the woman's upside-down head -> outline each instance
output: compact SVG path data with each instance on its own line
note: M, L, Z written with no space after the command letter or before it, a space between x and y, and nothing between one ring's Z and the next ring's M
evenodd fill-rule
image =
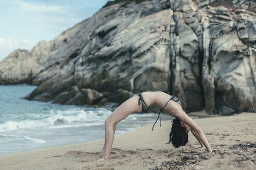
M172 145L175 148L180 146L185 146L188 141L188 134L186 133L186 127L181 126L181 121L178 118L172 120L172 130L170 133L170 141L167 144L170 144L172 141Z

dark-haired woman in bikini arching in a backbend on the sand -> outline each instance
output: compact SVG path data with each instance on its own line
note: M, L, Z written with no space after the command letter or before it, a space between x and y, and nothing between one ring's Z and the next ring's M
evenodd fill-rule
M181 101L177 97L171 96L164 92L143 92L134 94L129 100L122 103L105 121L105 144L101 150L103 157L99 161L108 160L111 152L114 131L116 131L116 124L133 112L144 112L148 106L155 105L160 109L158 118L161 111L165 111L172 117L175 117L172 122L172 129L170 133L170 141L174 147L185 146L188 141L188 132L191 130L193 135L197 138L201 145L201 149L206 148L209 153L212 149L204 136L200 127L189 118L181 106ZM158 120L157 118L157 120ZM157 122L157 121L156 121ZM155 122L155 124L156 124ZM154 124L154 126L155 126ZM161 118L160 118L161 125ZM153 128L152 128L153 130ZM168 144L169 144L168 143Z

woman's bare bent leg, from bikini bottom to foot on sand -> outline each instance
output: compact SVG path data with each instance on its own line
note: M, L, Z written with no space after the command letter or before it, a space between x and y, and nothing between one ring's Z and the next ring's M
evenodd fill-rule
M129 100L125 101L106 119L105 144L103 150L101 151L103 153L102 159L106 160L109 158L114 141L114 131L116 131L116 124L133 112L140 112L142 110L142 105L138 105L138 98L138 96L133 96Z

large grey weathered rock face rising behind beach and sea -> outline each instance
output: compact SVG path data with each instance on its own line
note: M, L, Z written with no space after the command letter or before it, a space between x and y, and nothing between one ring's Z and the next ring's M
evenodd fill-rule
M26 98L60 104L122 103L133 93L164 91L187 112L255 112L256 6L220 2L100 9L53 41L8 55L0 62L1 84L39 85Z

